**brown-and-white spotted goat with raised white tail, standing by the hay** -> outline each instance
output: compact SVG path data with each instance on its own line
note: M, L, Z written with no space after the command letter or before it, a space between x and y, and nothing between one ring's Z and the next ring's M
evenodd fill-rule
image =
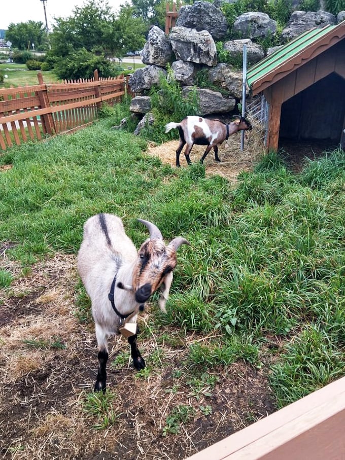
M176 166L180 166L180 153L185 144L185 157L188 164L191 164L189 154L194 144L198 146L207 146L200 162L206 158L210 150L215 151L215 160L220 161L218 157L218 146L224 140L227 140L231 134L237 131L252 129L251 123L240 115L235 115L236 119L231 123L223 123L220 120L208 120L206 118L190 115L184 118L180 123L170 122L165 125L165 132L171 129L179 128L180 144L176 151Z

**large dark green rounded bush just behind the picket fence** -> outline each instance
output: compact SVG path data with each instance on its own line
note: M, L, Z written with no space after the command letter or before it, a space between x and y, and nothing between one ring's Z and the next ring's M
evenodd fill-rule
M77 80L92 78L98 69L99 77L114 77L119 75L115 65L103 56L96 56L82 48L75 53L56 59L54 72L62 80Z

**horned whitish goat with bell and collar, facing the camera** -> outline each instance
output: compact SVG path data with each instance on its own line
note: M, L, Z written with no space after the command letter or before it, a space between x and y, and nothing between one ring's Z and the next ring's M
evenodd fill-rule
M128 337L135 369L144 369L145 361L137 348L139 330L136 319L144 303L161 287L158 305L165 311L176 267L176 251L189 244L182 237L165 245L160 230L151 222L138 219L150 232L139 251L126 235L120 218L112 214L90 217L84 225L78 253L78 272L91 299L98 345L98 373L95 391L106 389L108 337L121 331ZM130 325L133 331L130 330ZM127 328L127 329L126 329ZM124 329L126 333L124 333Z

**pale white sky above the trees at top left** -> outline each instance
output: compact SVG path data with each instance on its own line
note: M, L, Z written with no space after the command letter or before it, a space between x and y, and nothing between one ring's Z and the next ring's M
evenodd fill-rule
M5 3L5 1L1 0L1 3ZM63 18L71 16L74 8L76 6L82 7L84 3L84 0L47 0L45 5L48 27L51 28L54 16ZM125 0L109 0L108 3L115 12L120 5L126 2ZM4 8L3 6L0 10L0 29L7 29L11 22L17 24L18 22L30 20L35 22L42 21L45 25L46 20L41 0L9 0L6 2L6 7Z

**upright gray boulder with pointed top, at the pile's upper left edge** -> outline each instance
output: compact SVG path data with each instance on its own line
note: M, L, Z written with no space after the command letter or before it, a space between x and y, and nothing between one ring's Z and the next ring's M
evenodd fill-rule
M147 42L141 53L144 64L155 64L164 67L172 56L172 49L165 33L157 26L153 26L147 36Z

